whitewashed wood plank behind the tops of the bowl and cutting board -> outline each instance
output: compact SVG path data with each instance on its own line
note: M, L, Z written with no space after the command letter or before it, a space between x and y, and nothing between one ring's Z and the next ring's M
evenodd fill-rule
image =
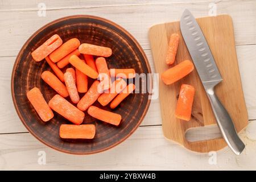
M232 5L230 5L232 4ZM150 49L148 28L154 24L178 20L185 8L196 17L207 16L209 2L159 5L88 7L48 10L39 17L37 10L0 11L0 56L16 56L24 42L38 28L57 18L74 14L90 14L113 20L126 28L144 49ZM234 21L236 44L256 44L256 1L217 3L217 14L230 14Z

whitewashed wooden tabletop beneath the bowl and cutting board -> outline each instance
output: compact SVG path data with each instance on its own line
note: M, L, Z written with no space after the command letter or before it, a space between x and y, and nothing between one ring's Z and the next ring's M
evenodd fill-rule
M44 4L40 4L43 2ZM256 169L256 1L52 1L0 0L0 170L2 169ZM43 10L46 5L46 16ZM233 18L238 64L249 113L249 126L240 136L246 149L236 156L224 148L216 154L197 154L164 139L159 100L152 100L141 126L125 142L100 154L68 155L44 146L19 121L11 100L11 71L24 42L44 24L63 16L90 14L113 20L126 28L143 47L152 71L154 64L148 28L178 20L185 8L196 17L217 14ZM198 140L216 137L217 129L191 131ZM43 155L42 155L43 154ZM40 163L46 156L46 164Z

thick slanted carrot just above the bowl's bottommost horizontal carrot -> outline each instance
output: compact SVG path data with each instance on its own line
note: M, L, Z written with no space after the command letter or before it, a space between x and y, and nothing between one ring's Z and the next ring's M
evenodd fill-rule
M65 98L58 94L52 97L52 99L48 102L48 105L52 110L56 111L75 125L80 125L84 120L84 112L77 109L70 102L65 100Z

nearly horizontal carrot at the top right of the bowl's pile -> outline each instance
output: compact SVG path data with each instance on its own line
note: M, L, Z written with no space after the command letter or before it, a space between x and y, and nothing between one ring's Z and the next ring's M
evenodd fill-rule
M109 57L112 55L112 49L109 47L96 46L93 44L81 44L79 46L79 52L86 55Z

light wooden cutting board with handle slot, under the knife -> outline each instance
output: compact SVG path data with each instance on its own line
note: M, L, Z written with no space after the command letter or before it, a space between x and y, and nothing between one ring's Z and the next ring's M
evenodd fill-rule
M197 22L207 39L223 78L223 81L216 86L216 94L228 110L237 131L240 132L247 126L248 115L237 63L232 18L229 15L218 15L198 18ZM177 50L176 61L170 66L164 60L168 48L168 40L172 33L178 33L181 39ZM227 146L223 138L196 142L189 142L185 138L185 132L188 129L216 125L207 94L196 69L172 85L164 85L160 78L160 74L168 68L173 67L185 59L192 60L182 38L179 22L157 24L151 27L149 39L154 57L155 70L156 73L159 73L159 98L162 110L164 137L174 140L189 150L197 152L217 151ZM192 117L188 122L175 118L175 107L181 84L190 84L196 88Z

